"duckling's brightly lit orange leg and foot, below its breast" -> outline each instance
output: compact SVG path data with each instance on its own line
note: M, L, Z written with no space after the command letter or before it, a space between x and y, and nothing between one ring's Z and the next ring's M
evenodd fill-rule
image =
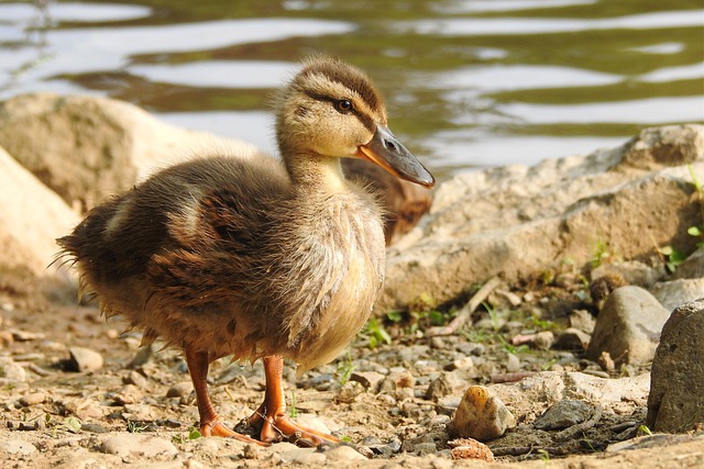
M284 399L284 359L278 356L264 357L266 391L264 402L248 420L251 425L261 424L262 442L271 443L287 439L299 446L319 446L324 443L340 443L332 435L316 432L312 428L295 424L286 415Z

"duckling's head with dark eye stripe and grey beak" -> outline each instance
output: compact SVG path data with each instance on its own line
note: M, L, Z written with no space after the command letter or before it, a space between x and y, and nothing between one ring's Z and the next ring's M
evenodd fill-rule
M334 58L310 58L277 102L276 137L289 170L306 158L362 158L399 178L435 185L388 129L382 96L360 69Z

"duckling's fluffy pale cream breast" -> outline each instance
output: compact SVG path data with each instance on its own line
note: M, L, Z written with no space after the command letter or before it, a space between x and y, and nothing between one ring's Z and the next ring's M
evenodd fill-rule
M299 372L342 351L369 320L384 280L384 231L373 198L352 193L312 208L292 236L298 239L296 267L286 269L282 283L289 292L287 281L299 287L287 301L280 351L299 364Z

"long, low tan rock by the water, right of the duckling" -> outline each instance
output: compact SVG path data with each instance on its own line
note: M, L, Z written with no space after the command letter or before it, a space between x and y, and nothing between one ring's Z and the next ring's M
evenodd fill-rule
M704 174L704 126L649 129L610 149L455 176L430 216L388 252L376 311L421 293L441 303L501 275L517 279L571 259L581 267L597 242L625 259L657 245L692 250L701 223L686 164ZM647 230L647 234L644 232Z

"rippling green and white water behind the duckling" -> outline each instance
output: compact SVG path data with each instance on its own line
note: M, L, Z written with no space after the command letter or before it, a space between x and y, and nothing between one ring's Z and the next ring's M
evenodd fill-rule
M441 178L704 122L701 0L0 0L0 99L110 96L268 152L311 53L364 68Z

